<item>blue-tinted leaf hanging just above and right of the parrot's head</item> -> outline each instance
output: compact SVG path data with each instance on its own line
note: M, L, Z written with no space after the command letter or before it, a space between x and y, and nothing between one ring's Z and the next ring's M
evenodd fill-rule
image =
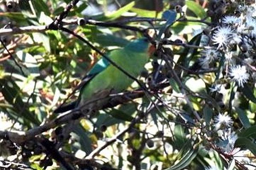
M177 13L175 11L171 11L171 10L164 11L164 13L162 14L162 18L164 18L166 22L165 22L165 25L160 28L160 31L156 37L156 40L161 39L162 34L165 32L166 29L169 28L169 26L171 26L174 23L174 21L176 20L176 17L177 17Z

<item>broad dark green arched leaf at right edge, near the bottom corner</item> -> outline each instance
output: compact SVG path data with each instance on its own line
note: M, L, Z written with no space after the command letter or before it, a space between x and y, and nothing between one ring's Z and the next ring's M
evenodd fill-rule
M256 156L256 144L245 137L238 137L235 141L235 147L244 147L249 149Z

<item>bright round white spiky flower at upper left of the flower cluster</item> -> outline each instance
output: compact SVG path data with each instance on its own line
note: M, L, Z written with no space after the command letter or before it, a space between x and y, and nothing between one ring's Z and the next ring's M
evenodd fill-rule
M227 43L230 41L230 38L232 37L232 32L233 31L230 26L218 28L212 37L212 41L214 42L213 44L218 44L218 48L227 45Z

